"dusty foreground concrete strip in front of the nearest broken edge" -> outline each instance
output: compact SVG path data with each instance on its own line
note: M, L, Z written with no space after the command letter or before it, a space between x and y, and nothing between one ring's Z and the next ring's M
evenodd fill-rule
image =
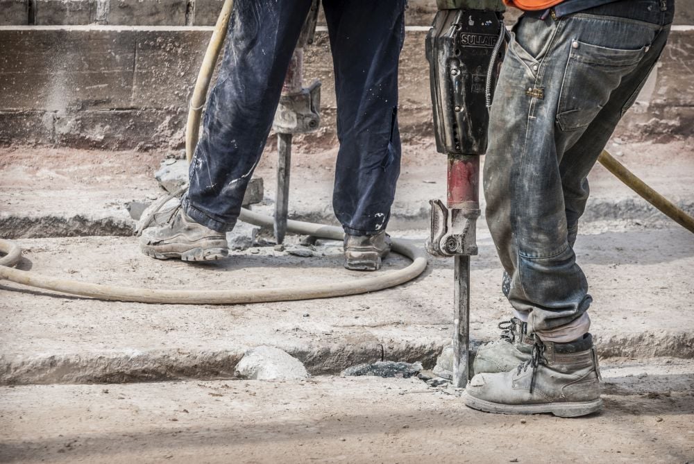
M418 379L1 387L3 463L694 460L694 364L604 366L604 411L493 415Z

